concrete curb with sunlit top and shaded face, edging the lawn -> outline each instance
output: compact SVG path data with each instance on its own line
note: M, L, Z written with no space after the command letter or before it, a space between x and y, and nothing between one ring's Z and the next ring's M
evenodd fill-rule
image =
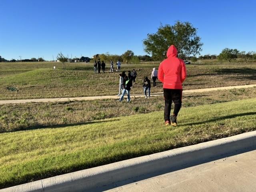
M0 192L82 192L256 147L256 131L63 174ZM226 157L226 156L225 156Z

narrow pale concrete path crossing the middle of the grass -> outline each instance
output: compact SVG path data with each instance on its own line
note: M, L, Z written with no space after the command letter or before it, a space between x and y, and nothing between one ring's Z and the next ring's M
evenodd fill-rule
M206 91L217 91L217 90L225 90L225 89L240 89L240 88L248 88L248 87L256 87L256 85L239 85L239 86L230 86L230 87L214 87L214 88L206 88L206 89L192 89L192 90L184 90L183 93L202 93ZM151 96L159 96L163 95L163 93L151 93ZM145 97L144 94L139 95L131 95L131 97ZM21 100L1 100L0 105L8 104L8 103L47 103L47 102L61 102L61 101L80 101L80 100L95 100L95 99L118 99L119 97L116 95L109 96L94 96L94 97L66 97L66 98L49 98L49 99L21 99Z

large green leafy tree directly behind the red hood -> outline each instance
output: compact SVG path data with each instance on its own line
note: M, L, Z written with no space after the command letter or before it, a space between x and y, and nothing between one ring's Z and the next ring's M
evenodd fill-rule
M166 58L167 49L174 45L178 57L184 59L202 51L201 38L196 34L197 29L189 22L177 21L173 26L165 25L158 28L155 34L148 34L143 40L144 50L151 54L154 60Z

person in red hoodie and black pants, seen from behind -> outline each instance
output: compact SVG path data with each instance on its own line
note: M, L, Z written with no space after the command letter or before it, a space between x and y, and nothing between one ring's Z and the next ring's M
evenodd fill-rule
M171 45L167 51L167 59L160 63L158 79L164 88L164 121L165 125L177 126L177 116L182 103L182 83L186 79L186 66L182 59L177 57L177 49ZM174 111L171 113L172 101Z

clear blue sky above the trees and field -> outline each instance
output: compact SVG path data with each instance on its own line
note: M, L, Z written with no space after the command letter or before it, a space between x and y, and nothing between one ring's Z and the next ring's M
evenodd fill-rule
M202 55L256 51L255 8L254 0L0 0L0 55L144 55L147 34L177 20L198 28Z

